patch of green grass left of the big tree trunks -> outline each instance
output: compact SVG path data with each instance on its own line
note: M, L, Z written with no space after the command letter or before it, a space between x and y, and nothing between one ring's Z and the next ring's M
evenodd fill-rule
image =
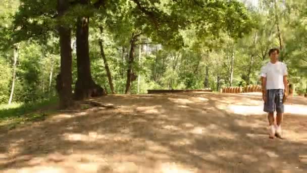
M57 103L57 98L51 98L25 104L0 105L0 126L12 129L18 124L44 120L48 114L56 111Z

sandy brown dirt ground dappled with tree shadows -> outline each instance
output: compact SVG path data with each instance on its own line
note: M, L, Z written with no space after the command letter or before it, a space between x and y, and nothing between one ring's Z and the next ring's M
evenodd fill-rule
M268 138L259 94L114 95L0 134L0 172L307 172L307 99ZM83 109L81 109L81 107Z

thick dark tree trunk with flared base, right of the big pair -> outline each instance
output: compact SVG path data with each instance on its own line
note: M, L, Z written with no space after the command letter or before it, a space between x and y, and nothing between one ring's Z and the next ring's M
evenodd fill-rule
M87 4L82 0L82 4ZM103 96L106 94L101 86L97 85L91 76L88 44L89 17L77 19L77 81L75 85L75 99L83 100L88 97Z

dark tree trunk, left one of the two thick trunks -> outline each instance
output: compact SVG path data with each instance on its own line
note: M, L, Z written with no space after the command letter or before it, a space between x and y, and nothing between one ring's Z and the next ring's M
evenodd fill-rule
M69 8L66 0L58 0L58 13L63 16ZM67 108L72 105L72 54L71 54L71 29L60 25L58 27L60 36L61 67L57 75L57 91L60 96L60 107Z

